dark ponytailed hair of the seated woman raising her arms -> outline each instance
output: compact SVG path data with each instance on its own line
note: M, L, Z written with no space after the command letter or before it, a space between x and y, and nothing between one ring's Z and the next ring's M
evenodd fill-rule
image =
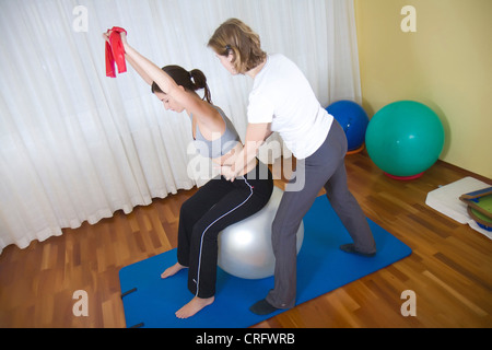
M204 90L203 101L208 103L212 103L212 97L210 93L209 85L207 85L207 78L203 72L199 69L194 69L188 72L186 69L179 66L165 66L162 68L164 72L166 72L178 85L185 88L188 91L197 91L200 89ZM152 93L163 92L159 85L153 82L152 83Z

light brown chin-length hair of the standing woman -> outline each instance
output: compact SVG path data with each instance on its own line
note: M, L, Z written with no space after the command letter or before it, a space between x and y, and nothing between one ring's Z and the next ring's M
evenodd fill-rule
M222 23L209 39L208 46L221 56L232 52L232 63L241 74L257 67L267 57L261 49L259 35L237 19Z

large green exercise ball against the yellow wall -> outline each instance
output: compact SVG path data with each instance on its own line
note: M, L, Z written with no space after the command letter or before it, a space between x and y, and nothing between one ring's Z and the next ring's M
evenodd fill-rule
M419 177L437 161L444 128L437 115L414 101L398 101L379 109L365 133L372 161L398 179Z

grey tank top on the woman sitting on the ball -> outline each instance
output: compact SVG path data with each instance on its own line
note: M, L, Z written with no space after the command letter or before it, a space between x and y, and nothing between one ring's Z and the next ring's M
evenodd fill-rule
M241 138L237 135L236 129L234 128L233 124L229 118L225 116L224 112L219 108L218 106L213 106L219 114L221 115L222 119L225 121L225 131L224 133L213 141L207 140L200 132L200 129L198 128L198 122L196 125L196 133L195 133L195 147L197 148L198 152L200 152L201 155L208 156L211 159L219 158L221 155L224 155L229 151L231 151L237 142L241 142Z

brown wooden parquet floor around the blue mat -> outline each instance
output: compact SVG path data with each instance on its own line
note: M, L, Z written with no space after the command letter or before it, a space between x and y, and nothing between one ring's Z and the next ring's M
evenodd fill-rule
M403 183L386 177L365 152L345 163L366 215L413 253L255 327L492 327L492 241L424 203L429 191L470 174L438 162ZM0 327L126 327L118 271L176 247L179 207L194 191L155 199L128 215L117 211L26 249L7 247L0 255ZM87 292L89 316L72 313L77 290ZM400 313L405 290L415 293L417 316Z

